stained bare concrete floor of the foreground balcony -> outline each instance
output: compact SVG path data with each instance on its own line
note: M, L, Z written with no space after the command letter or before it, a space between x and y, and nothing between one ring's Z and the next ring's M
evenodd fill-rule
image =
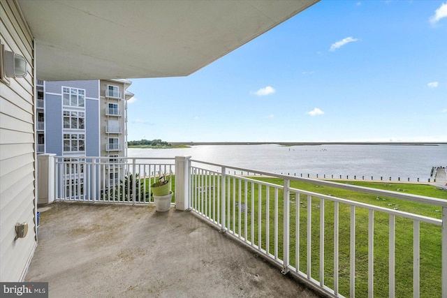
M25 281L50 297L318 297L190 211L54 203L39 207Z

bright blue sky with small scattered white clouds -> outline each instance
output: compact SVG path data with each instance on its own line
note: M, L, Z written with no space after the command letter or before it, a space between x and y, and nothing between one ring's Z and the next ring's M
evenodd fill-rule
M322 0L188 77L131 80L128 140L447 142L447 1Z

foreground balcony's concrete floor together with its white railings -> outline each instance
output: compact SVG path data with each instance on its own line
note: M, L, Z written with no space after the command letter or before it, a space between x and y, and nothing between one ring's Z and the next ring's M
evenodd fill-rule
M370 297L446 297L447 284L442 281L447 280L447 200L184 157L126 158L120 161L122 171L115 181L108 179L106 170L110 158L86 157L84 187L70 196L66 187L73 181L63 179L67 168L63 160L55 162L57 178L49 178L55 182L55 200L96 204L52 207L54 211L48 213L52 230L45 232L42 225L39 231L39 244L45 237L48 241L43 255L54 258L70 247L79 258L71 258L73 265L59 270L59 262L53 261L57 267L52 269L46 257L35 257L38 265L33 269L31 263L29 280L42 278L63 290L65 283L73 283L75 272L91 272L80 278L107 276L98 281L100 286L119 284L125 296L145 295L149 289L161 291L154 296L172 296L175 292L171 291L198 290L201 285L205 287L201 295L187 293L196 297L227 290L223 296L289 297L302 289L276 291L297 287L297 279L328 297L366 293ZM154 212L150 189L150 182L161 172L175 173L175 209L167 214ZM135 179L128 179L131 174ZM432 215L423 215L424 210ZM70 220L57 216L71 212ZM64 224L51 223L51 216ZM105 242L96 241L98 237ZM258 257L271 265L258 269L260 263L267 264ZM270 271L272 266L277 269ZM56 270L66 274L66 279L54 277L59 275ZM291 278L284 278L280 271ZM164 282L163 276L169 281ZM283 280L292 285L279 285ZM411 286L402 287L403 281ZM89 284L85 287L96 286ZM161 284L168 287L156 286ZM244 292L249 285L255 285L255 292Z

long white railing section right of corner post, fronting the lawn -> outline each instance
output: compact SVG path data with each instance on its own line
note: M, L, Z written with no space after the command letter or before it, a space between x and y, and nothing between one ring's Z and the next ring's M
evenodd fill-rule
M447 297L446 200L203 161L191 160L189 169L191 209L276 262L284 274L291 272L333 297L366 292L369 297ZM235 170L249 177L230 174ZM255 174L276 182L254 179ZM298 182L354 198L366 193L370 202L393 204L383 207L291 187ZM400 211L398 200L416 204L414 210L419 203L431 206L439 218ZM437 249L427 251L427 241ZM412 293L397 287L409 278Z

